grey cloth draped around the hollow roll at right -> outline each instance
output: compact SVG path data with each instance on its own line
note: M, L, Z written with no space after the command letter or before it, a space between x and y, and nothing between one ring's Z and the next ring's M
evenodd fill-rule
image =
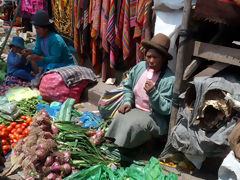
M161 157L167 158L170 154L180 151L197 168L200 168L206 157L222 155L230 148L228 136L236 124L236 118L232 117L215 132L206 132L196 126L194 123L204 104L205 94L210 90L219 89L239 99L240 84L220 77L199 77L194 79L193 85L196 92L192 101L193 109L192 111L188 107L179 109L177 123L172 129Z

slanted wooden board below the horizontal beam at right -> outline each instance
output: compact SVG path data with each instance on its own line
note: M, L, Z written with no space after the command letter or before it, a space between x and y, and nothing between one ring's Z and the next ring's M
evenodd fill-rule
M230 64L216 62L216 63L210 65L209 67L207 67L206 69L204 69L203 71L201 71L200 73L196 74L194 77L200 77L200 76L212 77L214 74L222 71L223 69L227 68L228 66L230 66Z

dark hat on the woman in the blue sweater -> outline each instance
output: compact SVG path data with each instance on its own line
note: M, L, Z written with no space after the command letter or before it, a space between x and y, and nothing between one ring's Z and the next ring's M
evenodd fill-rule
M33 16L31 24L36 26L48 26L53 23L53 20L49 19L48 13L44 10L39 10Z

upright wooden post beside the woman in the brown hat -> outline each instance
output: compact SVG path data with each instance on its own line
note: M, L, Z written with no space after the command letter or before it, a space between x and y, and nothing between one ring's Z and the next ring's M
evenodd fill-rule
M181 25L182 30L188 30L191 9L192 9L192 0L185 0L184 9L183 9L183 19L182 19L182 25ZM192 52L189 51L188 49L188 46L187 46L188 43L189 41L187 40L187 36L180 37L179 49L177 54L176 71L175 71L176 80L174 85L174 99L176 98L175 97L176 95L179 95L181 93L181 88L183 85L184 65L186 65L184 61L186 61L187 58L191 57L189 56L189 54ZM178 112L178 107L174 106L173 104L168 134L171 133L171 129L175 125L177 112Z

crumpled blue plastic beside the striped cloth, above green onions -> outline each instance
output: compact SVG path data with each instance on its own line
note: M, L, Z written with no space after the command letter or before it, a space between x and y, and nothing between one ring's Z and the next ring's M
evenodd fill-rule
M97 128L103 122L103 119L93 112L85 111L78 121L84 128Z

